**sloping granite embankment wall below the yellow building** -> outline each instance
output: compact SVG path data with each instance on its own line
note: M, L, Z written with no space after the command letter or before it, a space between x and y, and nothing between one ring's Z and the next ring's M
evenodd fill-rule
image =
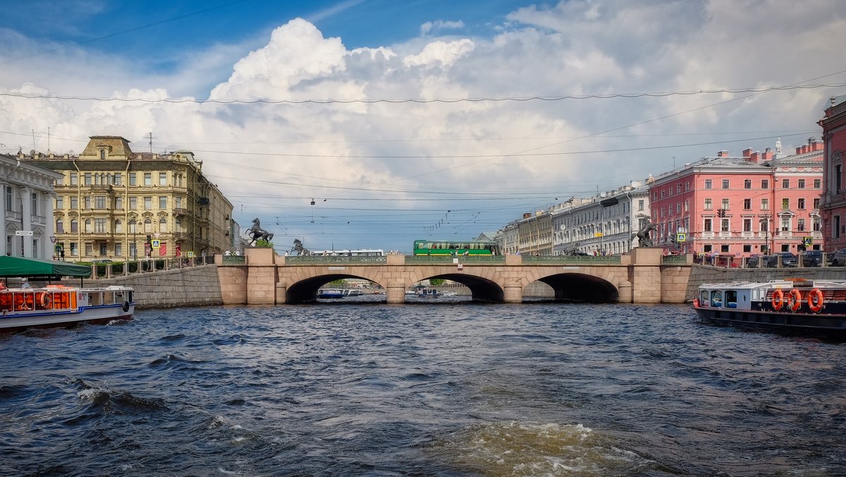
M79 285L80 280L66 280ZM135 289L135 308L176 308L222 305L217 265L161 270L102 280L84 280L85 286L124 285Z

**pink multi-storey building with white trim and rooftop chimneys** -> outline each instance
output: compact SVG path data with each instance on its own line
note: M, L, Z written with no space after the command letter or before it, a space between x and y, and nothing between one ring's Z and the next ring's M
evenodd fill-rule
M652 222L667 252L744 258L759 253L822 249L822 143L796 153L727 151L652 181Z

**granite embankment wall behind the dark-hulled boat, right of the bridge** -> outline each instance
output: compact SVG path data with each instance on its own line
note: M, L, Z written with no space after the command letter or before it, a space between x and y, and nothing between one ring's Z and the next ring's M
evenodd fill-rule
M687 297L695 297L703 283L721 281L769 281L785 278L808 280L846 280L846 268L816 267L803 269L726 269L709 265L693 265L690 269Z

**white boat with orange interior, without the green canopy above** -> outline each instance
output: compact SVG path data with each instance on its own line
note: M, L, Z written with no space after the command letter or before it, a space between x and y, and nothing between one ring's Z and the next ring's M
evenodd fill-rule
M0 332L132 319L133 293L128 286L48 285L3 290L0 291Z

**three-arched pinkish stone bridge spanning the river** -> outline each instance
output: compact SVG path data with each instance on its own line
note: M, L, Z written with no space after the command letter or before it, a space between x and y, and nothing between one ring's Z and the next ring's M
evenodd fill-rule
M244 257L217 256L224 304L275 305L316 300L318 289L338 279L370 280L388 303L405 302L420 280L446 279L470 288L482 302L519 303L534 281L555 297L585 302L681 303L692 255L663 257L661 249L635 248L614 257L282 257L270 248L247 249Z

